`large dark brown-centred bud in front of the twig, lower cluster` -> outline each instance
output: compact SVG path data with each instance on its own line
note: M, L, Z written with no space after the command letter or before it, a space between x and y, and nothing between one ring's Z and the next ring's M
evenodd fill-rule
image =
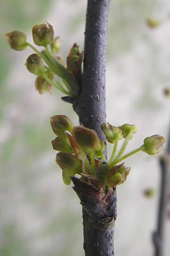
M96 132L86 127L77 126L73 129L73 137L76 143L82 148L86 154L100 150L100 139Z

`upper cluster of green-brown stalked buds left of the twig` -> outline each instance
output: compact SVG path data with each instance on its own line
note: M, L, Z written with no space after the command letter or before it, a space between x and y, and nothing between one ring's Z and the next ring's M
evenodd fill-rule
M83 52L79 52L79 46L75 43L69 51L67 61L56 56L61 48L59 36L54 38L54 30L51 24L42 23L32 28L32 38L36 46L44 47L38 51L31 43L27 42L27 36L20 31L6 33L7 41L12 49L23 51L31 47L35 53L26 61L29 72L37 76L35 86L40 94L49 91L52 86L68 96L77 96L79 93L78 80L83 60ZM62 82L54 81L58 76Z

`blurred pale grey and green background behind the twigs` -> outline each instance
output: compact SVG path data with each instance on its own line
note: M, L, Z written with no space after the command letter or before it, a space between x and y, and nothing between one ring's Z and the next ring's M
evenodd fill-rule
M76 124L62 93L40 95L35 76L25 68L31 49L15 52L3 34L20 30L32 43L35 24L49 22L62 43L65 59L73 43L83 50L87 1L1 0L0 8L0 255L83 256L82 209L71 187L62 182L55 163L55 138L50 117L66 114ZM170 85L169 0L111 1L107 47L107 121L138 127L128 150L143 138L169 131ZM146 18L163 20L156 29ZM166 146L166 145L165 145ZM153 255L158 194L148 199L145 189L159 188L159 156L143 152L126 161L131 173L118 187L117 256ZM165 256L170 251L167 221Z

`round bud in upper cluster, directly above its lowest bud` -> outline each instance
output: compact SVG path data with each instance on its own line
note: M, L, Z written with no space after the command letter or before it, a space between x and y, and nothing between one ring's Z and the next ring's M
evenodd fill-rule
M28 57L26 65L28 71L37 76L41 76L45 72L45 66L37 53L33 53Z

